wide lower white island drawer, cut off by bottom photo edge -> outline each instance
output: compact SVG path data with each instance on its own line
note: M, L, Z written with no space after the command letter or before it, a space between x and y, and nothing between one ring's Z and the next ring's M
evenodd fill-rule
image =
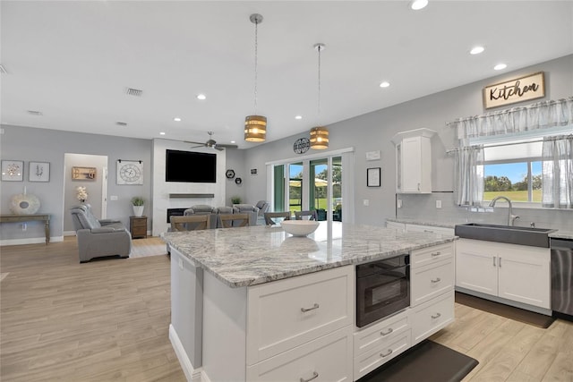
M247 368L248 381L348 381L352 378L352 327Z

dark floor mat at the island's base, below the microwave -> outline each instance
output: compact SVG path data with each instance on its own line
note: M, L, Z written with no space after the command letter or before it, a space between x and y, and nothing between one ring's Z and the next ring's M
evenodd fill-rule
M458 382L478 364L473 358L426 340L358 379L359 382Z

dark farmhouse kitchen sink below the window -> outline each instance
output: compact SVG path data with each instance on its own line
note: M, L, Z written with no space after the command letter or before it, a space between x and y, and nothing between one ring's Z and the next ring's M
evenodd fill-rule
M456 225L456 236L465 239L484 240L488 242L509 242L510 244L530 245L549 248L549 233L557 230L551 228L517 227L512 225L487 225L468 223Z

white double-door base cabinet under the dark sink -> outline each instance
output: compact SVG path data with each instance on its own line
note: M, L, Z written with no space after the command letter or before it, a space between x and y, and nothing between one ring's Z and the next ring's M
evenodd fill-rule
M460 239L456 286L550 309L550 264L549 248Z

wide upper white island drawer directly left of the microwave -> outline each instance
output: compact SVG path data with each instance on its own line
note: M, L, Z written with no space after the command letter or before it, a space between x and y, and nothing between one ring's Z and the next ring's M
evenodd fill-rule
M351 325L354 280L348 266L250 287L247 364Z

